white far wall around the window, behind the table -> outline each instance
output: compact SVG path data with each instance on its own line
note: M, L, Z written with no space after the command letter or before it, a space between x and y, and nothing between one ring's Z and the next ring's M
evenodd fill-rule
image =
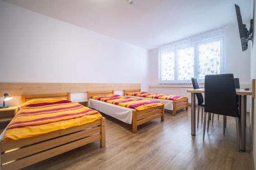
M246 22L249 23L249 22ZM249 25L247 24L248 28ZM238 25L228 26L224 29L225 32L225 54L224 72L232 73L234 77L240 79L242 88L250 86L250 44L248 50L242 52ZM158 84L158 48L148 52L150 62L150 91L159 93L172 93L178 95L187 95L190 102L190 94L186 93L186 88L191 88L191 85L159 85ZM203 85L202 85L203 87ZM248 100L249 108L250 102Z

